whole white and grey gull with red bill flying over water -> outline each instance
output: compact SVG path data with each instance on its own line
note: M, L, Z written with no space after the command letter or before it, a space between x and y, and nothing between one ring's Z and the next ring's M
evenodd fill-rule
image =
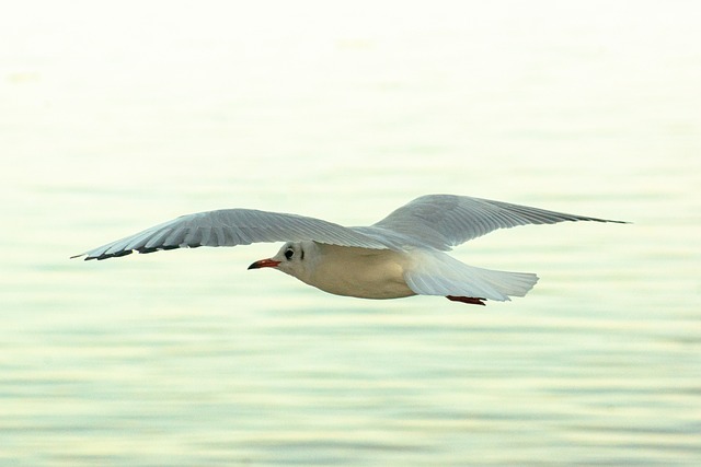
M617 222L455 195L426 195L369 226L254 209L182 215L72 258L133 252L287 242L249 269L274 268L336 295L399 299L440 295L484 305L524 296L538 276L468 266L446 250L497 229L563 221Z

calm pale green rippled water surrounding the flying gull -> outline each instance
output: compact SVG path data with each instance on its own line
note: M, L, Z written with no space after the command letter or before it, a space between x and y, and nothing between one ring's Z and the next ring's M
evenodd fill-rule
M0 31L0 465L698 465L701 11L25 2ZM225 207L427 192L632 225L455 255L526 299L363 301L277 245L68 256Z

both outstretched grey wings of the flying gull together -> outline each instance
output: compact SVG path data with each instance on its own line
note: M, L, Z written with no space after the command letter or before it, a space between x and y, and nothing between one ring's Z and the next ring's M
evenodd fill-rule
M106 259L198 246L314 241L340 246L397 249L452 246L497 229L564 221L620 222L455 195L427 195L370 226L344 227L320 219L254 209L183 215L74 257Z

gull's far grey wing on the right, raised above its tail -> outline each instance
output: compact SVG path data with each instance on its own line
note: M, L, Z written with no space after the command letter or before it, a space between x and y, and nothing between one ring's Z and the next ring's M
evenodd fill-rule
M618 222L547 211L528 206L455 195L426 195L371 225L412 238L416 245L448 250L497 229L564 221Z

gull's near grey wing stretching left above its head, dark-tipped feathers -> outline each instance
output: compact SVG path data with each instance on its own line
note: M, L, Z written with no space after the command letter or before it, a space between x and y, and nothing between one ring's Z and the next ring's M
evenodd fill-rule
M300 241L364 248L389 248L391 245L381 237L320 219L254 209L222 209L182 215L73 258L107 259L133 252Z

